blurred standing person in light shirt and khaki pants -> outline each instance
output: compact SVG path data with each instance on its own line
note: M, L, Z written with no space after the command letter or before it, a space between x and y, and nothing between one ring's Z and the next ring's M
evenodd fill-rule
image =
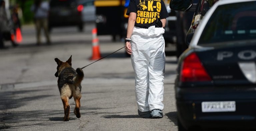
M34 5L31 7L31 11L34 12L34 19L37 32L37 45L41 44L41 29L44 29L44 34L47 40L47 44L51 44L49 32L48 32L48 12L49 3L47 1L35 0Z

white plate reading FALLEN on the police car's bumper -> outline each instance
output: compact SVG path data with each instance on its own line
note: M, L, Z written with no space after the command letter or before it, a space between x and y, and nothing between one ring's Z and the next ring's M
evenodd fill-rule
M236 101L207 101L202 102L202 112L236 111Z

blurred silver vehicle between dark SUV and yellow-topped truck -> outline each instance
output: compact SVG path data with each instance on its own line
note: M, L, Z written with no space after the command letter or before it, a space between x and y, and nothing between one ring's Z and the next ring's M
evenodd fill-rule
M94 0L80 0L79 3L84 7L82 11L83 22L95 22L96 8L94 6Z

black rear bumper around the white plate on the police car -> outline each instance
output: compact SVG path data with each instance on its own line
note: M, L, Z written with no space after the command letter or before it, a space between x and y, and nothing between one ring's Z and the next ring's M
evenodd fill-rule
M256 91L248 88L175 88L178 119L185 128L256 128ZM202 112L202 102L235 101L233 112Z

